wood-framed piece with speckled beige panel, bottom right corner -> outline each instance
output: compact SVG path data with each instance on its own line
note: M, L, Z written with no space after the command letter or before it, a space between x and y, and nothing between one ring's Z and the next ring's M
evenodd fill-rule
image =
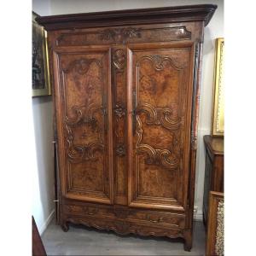
M206 255L224 255L224 193L210 191Z

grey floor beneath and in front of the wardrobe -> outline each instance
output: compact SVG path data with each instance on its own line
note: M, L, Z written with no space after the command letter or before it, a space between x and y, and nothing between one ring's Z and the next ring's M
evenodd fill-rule
M182 240L167 237L119 236L81 225L70 225L65 233L52 221L42 236L48 256L52 255L204 255L205 230L195 222L191 252L183 250Z

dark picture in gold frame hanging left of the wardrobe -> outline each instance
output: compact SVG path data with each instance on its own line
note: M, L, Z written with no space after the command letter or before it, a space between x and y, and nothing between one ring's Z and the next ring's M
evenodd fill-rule
M47 32L32 12L32 96L50 95Z

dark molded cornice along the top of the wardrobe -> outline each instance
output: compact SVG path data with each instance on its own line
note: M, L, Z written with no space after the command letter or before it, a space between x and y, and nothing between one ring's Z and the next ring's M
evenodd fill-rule
M200 4L154 9L128 9L75 15L41 16L36 18L47 31L100 26L204 21L207 26L217 5Z

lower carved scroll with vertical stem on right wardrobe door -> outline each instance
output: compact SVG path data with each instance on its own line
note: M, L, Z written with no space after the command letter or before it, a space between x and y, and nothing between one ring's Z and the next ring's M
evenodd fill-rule
M143 138L142 121L137 115L137 154L147 154L145 163L148 165L161 165L167 169L177 169L177 156L168 149L153 148L148 144L141 143Z

